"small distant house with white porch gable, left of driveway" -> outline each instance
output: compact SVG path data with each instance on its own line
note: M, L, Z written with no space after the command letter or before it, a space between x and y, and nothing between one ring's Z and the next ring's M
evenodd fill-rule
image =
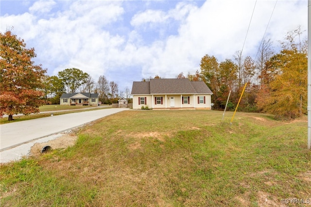
M61 105L98 105L98 93L63 93Z

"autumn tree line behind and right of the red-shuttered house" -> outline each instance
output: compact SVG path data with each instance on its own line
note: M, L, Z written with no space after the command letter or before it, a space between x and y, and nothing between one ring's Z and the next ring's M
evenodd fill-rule
M200 71L187 76L181 72L176 78L204 81L213 92L211 101L216 110L225 109L230 91L227 109L234 110L246 84L240 111L269 113L276 119L300 117L307 113L308 42L303 32L300 26L288 32L279 52L274 51L270 39L263 39L255 58L243 57L238 51L233 59L219 62L206 54Z

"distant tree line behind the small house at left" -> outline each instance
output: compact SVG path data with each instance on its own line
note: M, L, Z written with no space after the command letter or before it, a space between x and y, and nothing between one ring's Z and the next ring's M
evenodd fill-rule
M80 69L71 68L58 72L57 76L44 76L44 94L45 99L52 104L59 104L59 98L66 93L98 93L99 101L103 104L118 103L118 100L130 98L130 89L119 90L119 86L114 81L108 81L104 75L101 75L97 82L86 72Z

